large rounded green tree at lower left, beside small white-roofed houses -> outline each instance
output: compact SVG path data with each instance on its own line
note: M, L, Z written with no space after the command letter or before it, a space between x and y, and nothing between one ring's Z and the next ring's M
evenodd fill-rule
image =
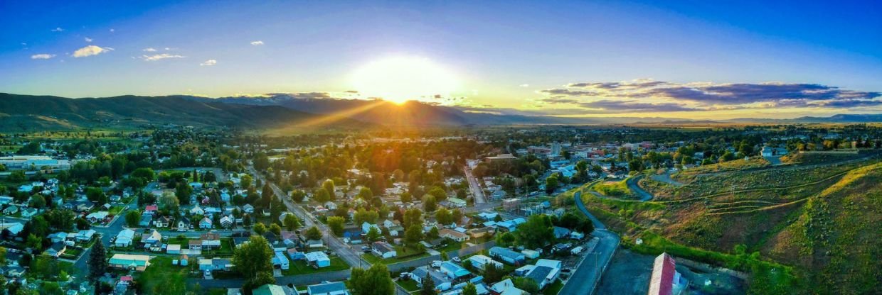
M273 250L264 237L251 236L248 243L233 251L233 268L246 281L258 277L260 273L273 275Z

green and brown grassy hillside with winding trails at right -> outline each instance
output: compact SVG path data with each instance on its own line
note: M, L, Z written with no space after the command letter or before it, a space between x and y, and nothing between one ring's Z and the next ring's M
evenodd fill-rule
M641 181L666 193L650 203L583 198L624 245L750 272L751 293L882 291L882 165L811 163Z

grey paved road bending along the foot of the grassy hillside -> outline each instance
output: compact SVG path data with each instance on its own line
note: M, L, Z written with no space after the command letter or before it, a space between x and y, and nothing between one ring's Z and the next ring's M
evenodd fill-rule
M612 260L612 255L615 254L616 248L620 242L620 239L615 232L609 232L606 229L606 225L603 225L599 219L594 218L594 216L588 212L585 208L585 203L582 203L582 199L579 196L581 196L580 193L574 195L576 198L576 207L578 207L587 218L591 219L591 222L594 224L594 232L591 234L600 238L600 240L597 242L597 246L594 247L594 251L586 254L586 258L583 258L582 262L579 262L579 266L576 267L572 276L570 276L566 284L564 284L564 288L561 289L560 294L594 293L597 284L600 283L600 279L603 276L603 271L606 270L609 262Z

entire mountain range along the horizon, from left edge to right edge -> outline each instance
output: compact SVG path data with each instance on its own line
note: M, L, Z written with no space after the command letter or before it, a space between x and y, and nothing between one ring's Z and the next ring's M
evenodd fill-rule
M0 93L0 131L143 128L178 124L236 129L357 129L374 124L401 126L715 124L882 122L882 114L836 114L795 119L744 118L697 121L660 117L557 117L471 112L418 101L345 100L273 94L265 97L134 96L69 99ZM365 124L368 123L368 124Z

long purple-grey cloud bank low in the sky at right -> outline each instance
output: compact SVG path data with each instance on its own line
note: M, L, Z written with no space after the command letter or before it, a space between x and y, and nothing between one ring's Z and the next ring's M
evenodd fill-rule
M539 101L601 109L691 111L767 107L870 107L882 105L880 92L818 84L669 83L647 79L571 83L538 91Z

